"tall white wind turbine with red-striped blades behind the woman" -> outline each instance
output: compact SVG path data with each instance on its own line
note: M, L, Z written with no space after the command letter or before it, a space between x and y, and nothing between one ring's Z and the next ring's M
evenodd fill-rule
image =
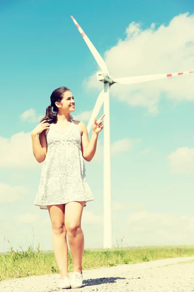
M94 47L92 42L86 36L84 31L81 29L78 22L71 16L73 22L77 26L81 36L86 42L88 48L90 49L92 55L101 72L97 72L97 80L104 83L104 89L98 95L94 110L92 112L91 118L87 125L88 133L92 128L94 118L97 117L98 112L100 111L102 105L104 104L104 248L112 248L113 247L113 239L112 239L112 199L111 199L111 149L110 149L110 98L109 91L110 87L114 83L120 84L137 84L152 80L158 80L162 78L168 78L173 76L178 76L182 74L194 73L194 71L190 72L178 72L178 73L164 73L164 74L155 74L155 75L144 75L144 76L130 76L125 78L113 78L108 68L103 60L103 58L97 52L97 49Z

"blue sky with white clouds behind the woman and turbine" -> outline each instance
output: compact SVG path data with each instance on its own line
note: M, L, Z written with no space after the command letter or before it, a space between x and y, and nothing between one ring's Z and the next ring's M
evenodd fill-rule
M71 89L87 125L102 88L71 15L113 77L194 70L191 0L0 1L0 252L7 240L52 249L48 211L33 206L42 165L30 133L54 89ZM193 243L193 92L193 74L111 88L114 245ZM100 133L85 163L95 198L83 213L86 248L103 244L102 150Z

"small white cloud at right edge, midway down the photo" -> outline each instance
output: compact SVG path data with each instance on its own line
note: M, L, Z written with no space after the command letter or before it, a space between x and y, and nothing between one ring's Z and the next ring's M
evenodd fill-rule
M191 173L194 170L194 148L180 147L167 159L172 173Z

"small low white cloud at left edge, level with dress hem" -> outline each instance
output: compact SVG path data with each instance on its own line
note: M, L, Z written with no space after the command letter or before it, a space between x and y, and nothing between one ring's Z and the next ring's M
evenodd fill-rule
M27 193L24 186L0 183L0 204L20 201Z

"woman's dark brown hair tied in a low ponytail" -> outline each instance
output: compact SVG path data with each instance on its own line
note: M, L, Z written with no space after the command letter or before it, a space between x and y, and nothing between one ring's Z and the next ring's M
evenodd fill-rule
M56 124L58 108L55 105L55 102L60 102L63 99L64 92L66 91L70 91L70 89L63 86L55 89L52 92L52 94L50 95L50 105L47 107L45 117L42 118L40 122L42 122L43 120L48 120L50 124ZM72 116L70 117L72 118Z

